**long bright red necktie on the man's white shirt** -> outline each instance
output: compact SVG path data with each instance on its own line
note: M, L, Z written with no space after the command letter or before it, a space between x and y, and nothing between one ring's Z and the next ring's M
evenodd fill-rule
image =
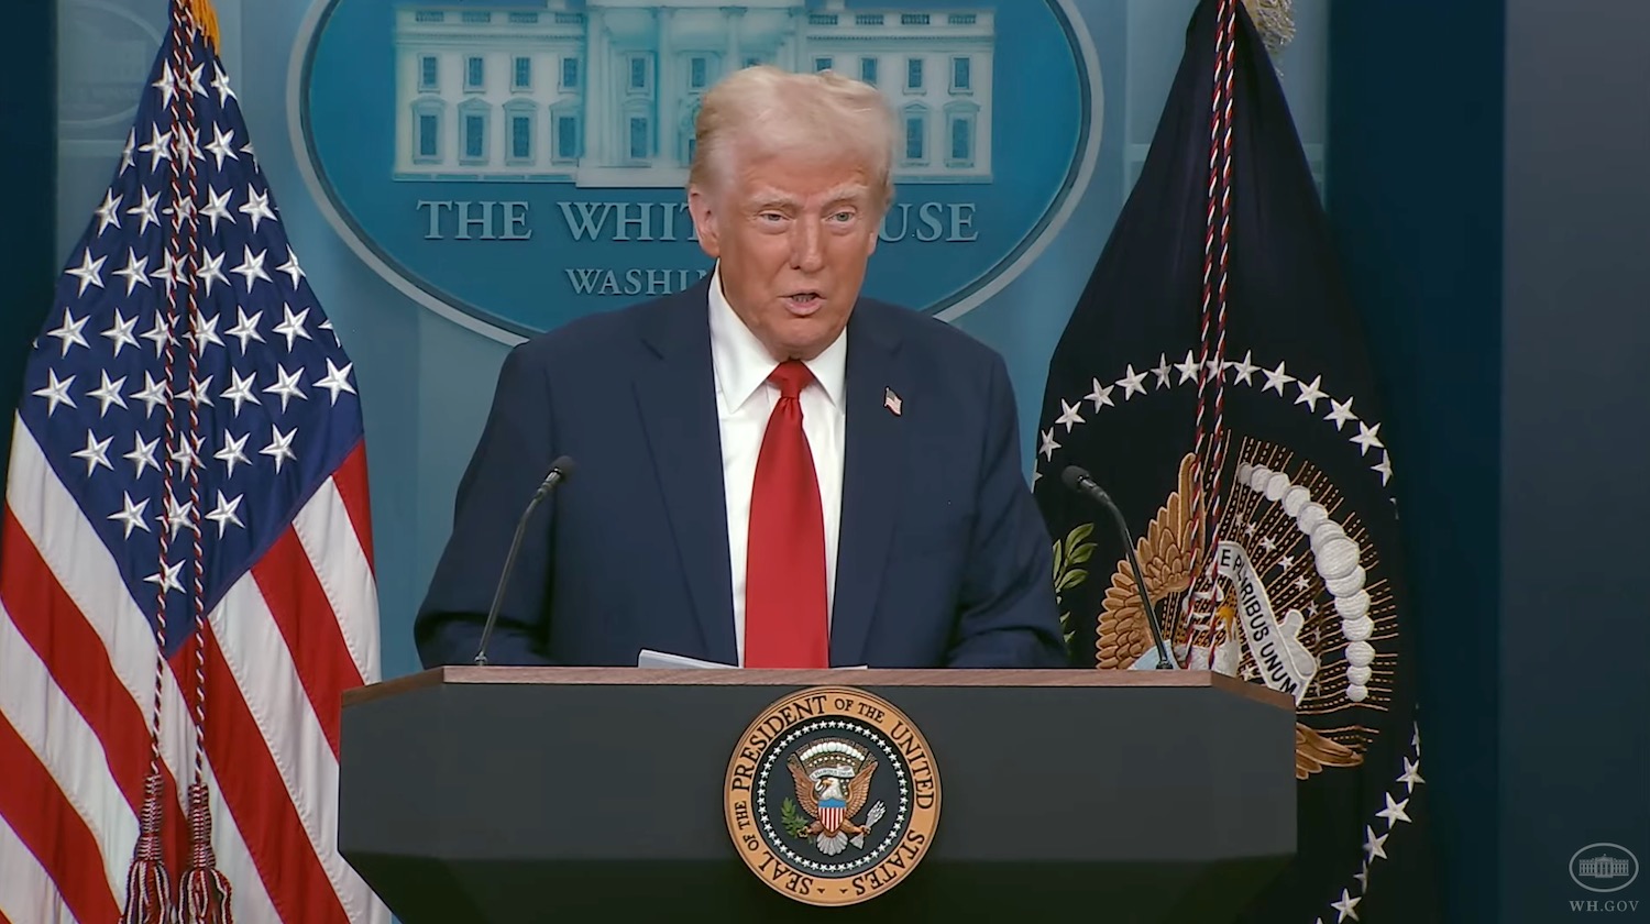
M825 513L799 398L813 373L789 360L767 380L779 386L779 403L767 417L751 485L744 665L830 667Z

